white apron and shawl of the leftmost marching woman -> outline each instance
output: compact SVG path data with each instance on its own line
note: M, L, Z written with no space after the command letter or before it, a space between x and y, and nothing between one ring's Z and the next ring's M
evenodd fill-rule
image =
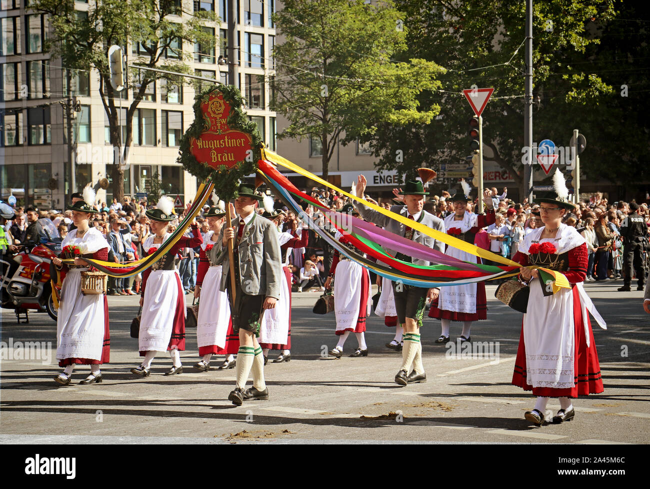
M77 238L72 230L61 243L79 246L82 254L94 253L109 244L95 228ZM88 358L101 360L104 343L104 295L83 295L81 293L81 272L88 268L71 269L61 284L59 313L57 316L57 360L66 358Z

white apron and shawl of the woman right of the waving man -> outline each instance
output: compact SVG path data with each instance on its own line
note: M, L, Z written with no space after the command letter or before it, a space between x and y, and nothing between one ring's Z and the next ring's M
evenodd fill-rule
M460 228L461 232L465 233L476 226L477 219L478 215L470 212L465 212L463 220L454 220L454 214L450 214L445 218L445 229ZM452 246L447 246L445 254L463 261L477 263L476 256ZM440 287L438 308L441 311L476 313L476 283Z

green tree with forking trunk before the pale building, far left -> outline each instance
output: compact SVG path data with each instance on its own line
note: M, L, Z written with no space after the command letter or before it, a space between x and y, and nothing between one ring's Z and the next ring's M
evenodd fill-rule
M94 70L99 74L99 96L109 120L110 144L114 148L112 165L113 196L122 202L123 168L129 163L133 144L133 115L149 86L159 78L182 85L183 78L161 75L149 70L127 70L127 85L133 98L127 105L125 131L120 129L120 94L110 84L108 50L112 45L136 46L128 52L129 62L144 68L189 73L185 63L192 54L183 51L183 43L198 42L214 46L212 34L201 29L214 23L213 12L193 12L188 0L96 0L88 5L87 14L75 10L75 0L32 0L30 7L48 15L53 29L47 49L57 55L69 70ZM181 21L182 20L182 21ZM123 95L122 95L123 97Z

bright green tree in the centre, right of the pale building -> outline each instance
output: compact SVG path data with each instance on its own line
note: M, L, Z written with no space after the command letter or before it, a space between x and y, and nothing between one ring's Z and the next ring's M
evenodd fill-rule
M380 122L428 124L439 112L418 96L437 90L444 70L415 57L393 60L406 51L407 32L391 1L287 0L274 19L285 42L274 49L272 104L290 122L278 137L319 139L323 178L339 140L369 138Z

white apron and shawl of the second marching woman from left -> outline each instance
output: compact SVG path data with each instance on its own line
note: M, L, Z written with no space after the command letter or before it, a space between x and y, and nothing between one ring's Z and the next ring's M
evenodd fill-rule
M145 250L159 248L154 245L153 238L146 239ZM164 241L166 241L165 236ZM144 291L144 306L140 317L140 335L138 351L164 352L169 346L174 330L174 315L178 299L178 272L174 270L155 270L149 274L147 287ZM183 296L183 313L187 313L185 294Z

